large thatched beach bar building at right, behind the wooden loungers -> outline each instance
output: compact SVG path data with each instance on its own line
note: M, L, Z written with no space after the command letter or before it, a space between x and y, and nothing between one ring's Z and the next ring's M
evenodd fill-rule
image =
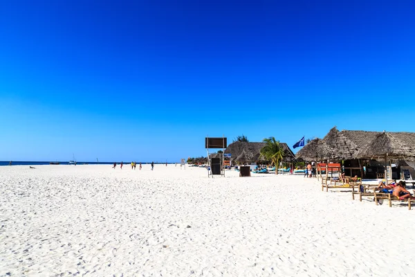
M415 177L415 133L330 129L324 139L314 139L296 154L305 161L338 162L346 175L369 179Z

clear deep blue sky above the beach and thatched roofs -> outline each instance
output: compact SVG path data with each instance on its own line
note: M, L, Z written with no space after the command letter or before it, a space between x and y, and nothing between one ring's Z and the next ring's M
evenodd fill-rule
M414 10L1 1L0 160L179 161L205 155L206 135L415 132Z

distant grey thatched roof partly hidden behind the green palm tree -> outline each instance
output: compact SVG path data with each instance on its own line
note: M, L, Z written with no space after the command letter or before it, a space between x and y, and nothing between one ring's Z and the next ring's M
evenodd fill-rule
M228 148L225 149L225 154L231 154L232 160L237 162L256 162L256 161L265 161L261 157L261 149L266 145L266 143L247 143L243 141L235 141L228 145ZM282 161L291 162L295 161L295 154L288 147L286 143L279 143L279 145L284 150L284 157Z

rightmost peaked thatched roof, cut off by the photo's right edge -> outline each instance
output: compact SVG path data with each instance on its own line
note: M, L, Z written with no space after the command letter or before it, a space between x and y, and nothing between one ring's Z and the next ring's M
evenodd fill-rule
M358 150L356 159L384 159L385 155L395 159L415 160L415 133L382 132L364 148Z

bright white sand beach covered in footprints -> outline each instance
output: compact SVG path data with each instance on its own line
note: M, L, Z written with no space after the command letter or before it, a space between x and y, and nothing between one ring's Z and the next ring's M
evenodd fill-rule
M302 176L35 167L0 167L0 276L415 276L396 202Z

